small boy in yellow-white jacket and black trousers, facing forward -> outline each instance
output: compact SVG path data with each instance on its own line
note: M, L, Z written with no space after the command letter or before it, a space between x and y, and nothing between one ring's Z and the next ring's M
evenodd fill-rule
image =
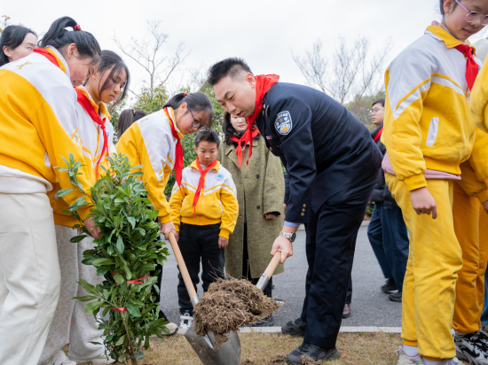
M183 170L181 184L175 183L169 206L177 229L177 242L196 290L201 281L203 291L224 275L224 249L229 245L239 206L231 173L216 160L220 140L216 131L202 131L195 138L195 159ZM180 329L193 323L193 304L183 276L178 273Z

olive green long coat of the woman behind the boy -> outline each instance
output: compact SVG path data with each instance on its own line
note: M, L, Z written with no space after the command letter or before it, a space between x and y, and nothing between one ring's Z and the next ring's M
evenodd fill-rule
M244 247L244 212L248 224L248 255L251 277L258 278L272 260L272 244L283 228L283 200L285 182L281 162L266 148L264 139L253 139L253 154L248 160L248 146L239 168L234 145L221 144L216 159L230 171L237 190L239 217L229 245L225 249L225 273L242 276L242 255ZM264 214L279 212L275 220L267 220ZM284 271L283 265L275 274Z

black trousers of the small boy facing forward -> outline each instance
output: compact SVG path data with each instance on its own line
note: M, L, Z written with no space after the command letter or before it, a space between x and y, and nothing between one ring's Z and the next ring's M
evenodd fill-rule
M192 278L195 291L197 284L200 283L201 261L201 281L203 291L209 290L210 283L216 282L219 277L224 276L224 250L218 248L218 234L220 224L209 224L207 226L195 226L193 224L182 223L179 227L178 246L185 260L186 268ZM179 269L179 268L178 268ZM178 272L178 305L180 313L188 311L193 314L191 298L186 291L183 276Z

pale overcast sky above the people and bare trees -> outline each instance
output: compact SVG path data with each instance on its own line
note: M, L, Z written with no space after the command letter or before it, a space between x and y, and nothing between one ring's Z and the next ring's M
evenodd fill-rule
M130 42L147 35L146 20L161 20L169 34L169 55L180 42L190 51L185 66L207 66L226 57L245 58L255 74L279 74L282 82L304 83L292 58L317 38L332 53L342 36L352 43L358 35L381 49L390 37L392 58L440 20L438 0L22 0L2 1L0 15L22 23L39 35L52 20L68 15L95 35L102 50L118 51L112 37ZM481 37L473 36L476 42ZM120 53L120 52L119 52ZM127 60L134 84L144 71ZM385 66L387 66L385 65ZM173 83L179 82L173 80Z

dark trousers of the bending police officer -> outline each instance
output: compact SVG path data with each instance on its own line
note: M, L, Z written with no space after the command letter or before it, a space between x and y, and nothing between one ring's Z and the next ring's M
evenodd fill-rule
M304 342L335 347L350 282L358 229L378 174L327 199L307 225L309 264L302 321L307 323Z

